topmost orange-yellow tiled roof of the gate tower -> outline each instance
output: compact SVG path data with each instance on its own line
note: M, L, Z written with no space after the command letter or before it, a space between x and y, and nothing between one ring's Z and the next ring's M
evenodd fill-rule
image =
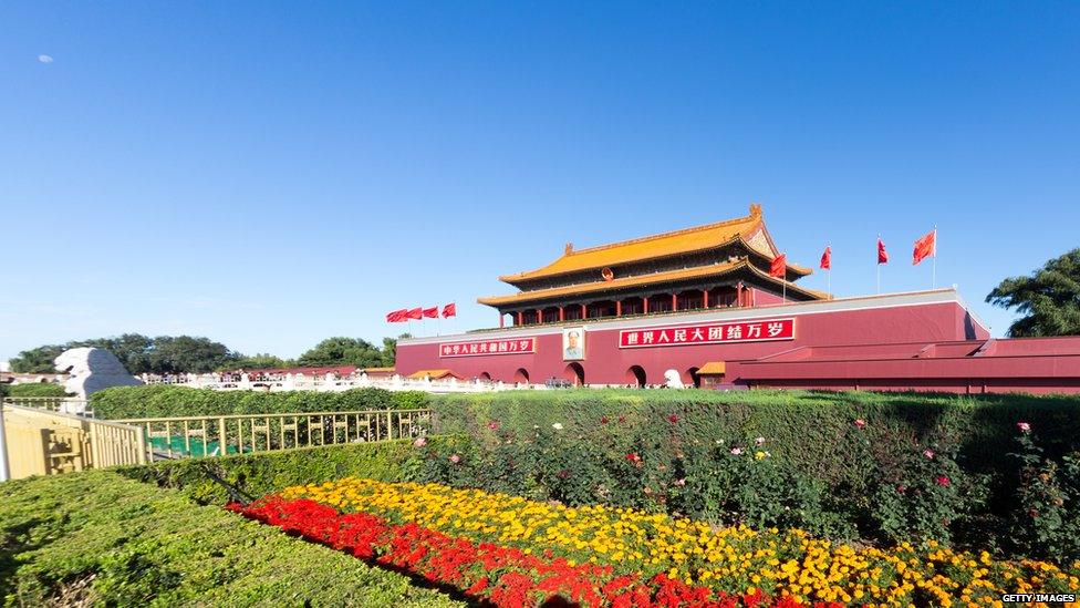
M600 269L606 266L640 261L645 259L662 258L678 254L700 251L719 247L736 238L748 239L759 228L764 228L761 220L761 206L750 205L750 215L704 226L695 226L672 233L635 238L590 247L588 249L574 250L568 245L565 253L559 259L537 270L518 272L517 275L506 275L499 280L513 282L519 280L536 279L553 275L573 272L575 270L588 270L591 268ZM771 244L771 241L770 241ZM772 251L760 251L762 255L772 257Z

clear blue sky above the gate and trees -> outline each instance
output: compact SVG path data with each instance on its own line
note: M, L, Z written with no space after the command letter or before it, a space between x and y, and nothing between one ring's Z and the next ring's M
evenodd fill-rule
M751 200L790 259L832 243L841 296L879 231L883 289L930 287L937 224L1000 334L987 291L1080 245L1078 32L1068 2L4 2L0 360L491 326L475 298L567 241Z

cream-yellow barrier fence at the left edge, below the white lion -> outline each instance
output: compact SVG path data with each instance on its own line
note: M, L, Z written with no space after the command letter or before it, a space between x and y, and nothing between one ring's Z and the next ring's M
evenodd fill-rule
M149 454L138 426L11 403L0 403L0 481L143 464Z

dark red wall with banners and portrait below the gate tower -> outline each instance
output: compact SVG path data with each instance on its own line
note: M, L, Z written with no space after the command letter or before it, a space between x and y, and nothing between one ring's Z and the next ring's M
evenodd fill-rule
M583 334L583 358L564 353L564 330ZM1080 337L990 340L952 289L414 338L398 342L396 367L624 385L641 371L662 384L673 369L689 383L719 361L721 384L737 388L1080 392Z

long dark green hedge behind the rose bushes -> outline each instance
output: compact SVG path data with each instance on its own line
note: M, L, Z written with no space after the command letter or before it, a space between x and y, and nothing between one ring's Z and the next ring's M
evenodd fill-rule
M603 435L620 450L641 436L669 435L668 416L676 415L687 436L706 443L766 437L780 457L829 482L861 464L843 449L855 420L866 423L865 434L883 457L916 443L943 443L955 445L976 472L1004 465L1019 421L1036 427L1051 455L1080 449L1080 396L562 390L444 395L433 398L432 406L444 434L476 436L496 421L525 436L560 423L568 435ZM605 418L609 424L601 424Z

